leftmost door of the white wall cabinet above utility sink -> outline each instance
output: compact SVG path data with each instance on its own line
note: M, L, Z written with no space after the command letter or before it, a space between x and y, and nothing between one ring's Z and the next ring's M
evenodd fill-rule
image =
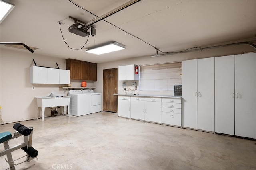
M47 68L32 66L30 67L30 83L46 84L47 82Z

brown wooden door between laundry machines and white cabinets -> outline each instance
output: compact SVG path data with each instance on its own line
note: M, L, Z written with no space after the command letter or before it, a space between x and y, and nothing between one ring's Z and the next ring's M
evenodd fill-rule
M117 68L103 70L103 110L117 112Z

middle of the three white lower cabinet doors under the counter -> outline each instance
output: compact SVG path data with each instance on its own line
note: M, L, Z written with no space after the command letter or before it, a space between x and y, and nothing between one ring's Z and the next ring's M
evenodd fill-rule
M145 101L131 99L131 118L145 120Z

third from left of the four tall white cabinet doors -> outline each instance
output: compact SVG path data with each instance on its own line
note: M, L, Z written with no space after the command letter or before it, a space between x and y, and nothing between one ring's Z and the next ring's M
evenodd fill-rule
M215 132L234 135L235 58L215 57Z

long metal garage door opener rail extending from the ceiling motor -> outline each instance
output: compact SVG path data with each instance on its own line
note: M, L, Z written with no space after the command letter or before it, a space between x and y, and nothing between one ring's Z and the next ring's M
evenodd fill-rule
M135 4L139 1L141 1L141 0L130 0L130 1L126 2L125 4L115 8L114 10L111 10L110 12L107 12L106 14L104 14L102 16L99 16L98 18L96 18L92 22L87 23L86 25L84 25L83 29L89 27L90 25L93 25L94 23L96 23L98 21L104 20L105 18L115 14L116 12L119 12L119 11L123 10L124 8L127 8L128 6L131 6L131 5L133 5L133 4Z

